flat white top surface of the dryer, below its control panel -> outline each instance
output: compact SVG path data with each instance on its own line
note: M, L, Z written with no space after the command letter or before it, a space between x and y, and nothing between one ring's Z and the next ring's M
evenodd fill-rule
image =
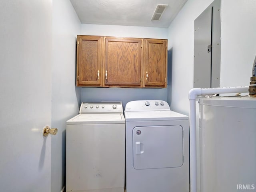
M126 121L188 120L188 116L174 111L124 112Z

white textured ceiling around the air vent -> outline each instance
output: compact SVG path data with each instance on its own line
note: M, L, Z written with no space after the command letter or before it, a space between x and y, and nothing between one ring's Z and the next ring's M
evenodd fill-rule
M168 27L187 0L70 0L83 24ZM151 21L157 4L168 4Z

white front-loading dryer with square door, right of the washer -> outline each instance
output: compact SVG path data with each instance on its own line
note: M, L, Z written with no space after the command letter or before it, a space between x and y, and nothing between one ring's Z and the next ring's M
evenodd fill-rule
M189 120L159 100L131 101L126 118L126 192L189 192Z

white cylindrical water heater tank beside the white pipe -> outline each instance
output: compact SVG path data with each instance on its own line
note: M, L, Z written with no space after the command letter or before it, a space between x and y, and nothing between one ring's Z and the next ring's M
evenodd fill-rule
M256 191L256 98L199 101L200 191Z

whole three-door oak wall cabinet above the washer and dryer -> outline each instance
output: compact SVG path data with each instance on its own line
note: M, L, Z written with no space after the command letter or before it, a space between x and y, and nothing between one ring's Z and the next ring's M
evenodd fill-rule
M166 87L167 40L77 36L76 85Z

